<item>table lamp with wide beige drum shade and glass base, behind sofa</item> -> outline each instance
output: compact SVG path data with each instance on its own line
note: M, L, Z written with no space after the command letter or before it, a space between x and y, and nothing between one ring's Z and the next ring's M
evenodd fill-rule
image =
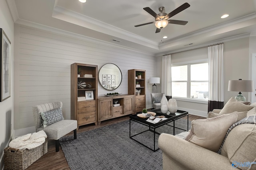
M245 102L245 97L242 96L241 92L253 92L253 81L252 80L229 80L228 91L239 92L238 96L235 97L238 101Z

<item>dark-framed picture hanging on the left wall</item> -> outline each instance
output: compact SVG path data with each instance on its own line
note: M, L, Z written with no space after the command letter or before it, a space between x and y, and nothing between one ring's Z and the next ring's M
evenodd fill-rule
M1 39L1 101L10 98L11 96L11 74L10 74L10 57L11 57L11 42L5 34L4 30L0 28Z

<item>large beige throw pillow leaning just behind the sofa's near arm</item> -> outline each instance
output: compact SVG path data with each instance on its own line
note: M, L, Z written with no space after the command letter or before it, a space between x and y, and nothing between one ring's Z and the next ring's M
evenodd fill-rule
M185 140L217 152L228 129L236 123L237 113L235 111L209 119L193 120L190 133Z

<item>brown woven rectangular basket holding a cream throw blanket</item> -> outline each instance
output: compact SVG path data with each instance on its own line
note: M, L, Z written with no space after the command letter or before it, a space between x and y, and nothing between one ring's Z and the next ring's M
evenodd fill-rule
M4 169L24 170L36 162L41 156L48 152L48 141L33 149L19 150L13 148L4 149Z

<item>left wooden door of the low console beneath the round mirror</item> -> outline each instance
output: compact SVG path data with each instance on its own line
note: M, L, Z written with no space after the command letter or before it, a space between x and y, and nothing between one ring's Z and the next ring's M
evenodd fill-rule
M106 120L112 117L112 98L100 99L98 102L99 121Z

